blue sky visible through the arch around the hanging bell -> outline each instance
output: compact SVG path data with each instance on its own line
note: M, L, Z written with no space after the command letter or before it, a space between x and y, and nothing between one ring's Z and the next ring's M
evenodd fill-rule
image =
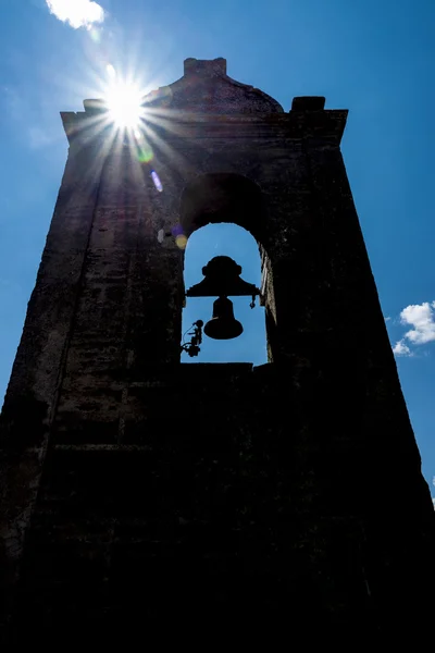
M241 266L241 278L260 287L261 262L254 238L235 224L209 224L196 231L188 239L185 258L184 281L186 289L203 279L202 268L215 256L229 256ZM194 322L210 320L216 297L187 297L183 310L183 333L190 331ZM234 315L244 326L244 332L233 340L216 341L203 335L198 357L182 355L183 362L252 362L262 365L268 360L264 308L256 298L231 297ZM188 336L186 334L188 340Z

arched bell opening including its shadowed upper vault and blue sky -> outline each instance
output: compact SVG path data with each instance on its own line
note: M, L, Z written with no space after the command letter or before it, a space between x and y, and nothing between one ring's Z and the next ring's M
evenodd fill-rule
M202 268L216 256L231 257L238 263L241 279L261 287L260 249L265 246L262 196L257 184L237 174L206 174L184 190L181 204L181 230L188 237L184 281L186 291L202 281ZM259 249L260 247L260 249ZM184 362L239 362L261 365L268 360L264 308L260 298L229 296L236 320L244 332L233 340L215 341L203 336L199 357L183 354ZM183 311L183 333L189 340L197 320L212 317L214 297L187 297Z

